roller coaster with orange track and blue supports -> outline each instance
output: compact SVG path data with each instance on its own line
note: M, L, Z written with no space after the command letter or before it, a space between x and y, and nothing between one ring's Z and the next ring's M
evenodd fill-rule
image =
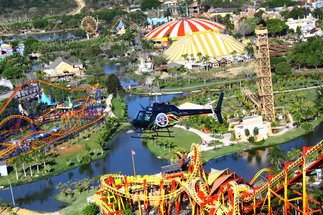
M44 87L49 88L51 105L46 107L42 98ZM62 90L63 103L55 104L52 88ZM57 89L56 89L57 90ZM65 101L67 98L73 98ZM55 105L54 105L55 104ZM69 108L73 104L75 108ZM34 149L60 143L103 119L99 84L86 88L70 88L33 80L16 87L0 109L0 161L9 162L20 153L27 156ZM45 131L40 126L48 122L60 122L60 127ZM24 134L16 141L14 136ZM41 145L42 143L43 145Z

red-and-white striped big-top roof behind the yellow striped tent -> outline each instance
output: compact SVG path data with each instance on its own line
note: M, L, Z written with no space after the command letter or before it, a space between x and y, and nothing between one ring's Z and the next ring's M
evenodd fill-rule
M203 30L212 30L214 28L222 30L225 26L207 19L182 18L167 22L155 28L145 37L155 41L167 41L166 35L169 34L172 40L179 40L185 37L185 34L192 34Z

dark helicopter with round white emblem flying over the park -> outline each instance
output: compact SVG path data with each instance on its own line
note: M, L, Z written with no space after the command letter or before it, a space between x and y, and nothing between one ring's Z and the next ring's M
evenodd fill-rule
M196 91L211 91L211 90L196 90ZM183 93L189 93L189 92L183 92ZM170 94L170 93L166 93L166 94ZM162 94L159 93L159 95L162 95ZM211 109L179 109L174 105L170 105L168 103L166 104L158 103L158 102L153 103L151 106L147 106L144 108L140 104L142 110L140 110L130 122L133 128L135 128L136 130L140 129L140 131L136 132L138 133L138 136L131 136L131 137L140 138L140 139L155 139L155 137L174 137L170 135L172 131L169 131L168 128L175 126L178 123L181 116L213 113L214 118L216 120L219 120L220 124L223 124L223 119L221 116L221 105L223 101L223 95L224 95L223 93L220 94L220 98L215 109L212 108L210 98L209 98L209 105ZM157 94L156 94L156 97L157 97ZM167 131L160 131L161 129L166 129ZM146 131L149 131L149 132L146 132ZM158 133L168 133L168 136L159 135ZM151 136L140 137L140 134L151 134Z

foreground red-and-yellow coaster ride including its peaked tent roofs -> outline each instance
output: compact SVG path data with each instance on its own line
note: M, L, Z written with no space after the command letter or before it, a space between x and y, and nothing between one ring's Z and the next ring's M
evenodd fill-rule
M268 172L268 169L260 170L250 183L228 169L205 173L200 146L193 143L188 155L191 160L187 172L159 173L143 177L104 175L94 200L102 207L103 214L108 215L124 214L126 203L129 203L131 208L138 206L140 215L143 211L145 214L151 214L152 210L161 215L179 215L181 205L186 202L192 207L192 215L273 215L277 214L279 207L283 207L284 214L315 214L323 211L323 204L306 195L306 175L322 168L322 146L323 141L313 147L304 147L301 158L295 162L286 162L282 172L269 175L265 185L254 187L253 181L261 172ZM299 184L302 185L302 192L292 190L292 186ZM288 199L287 191L298 197ZM272 209L272 201L276 197L279 204ZM302 204L297 206L299 200ZM310 201L318 209L311 209L308 204ZM118 204L118 207L115 204Z

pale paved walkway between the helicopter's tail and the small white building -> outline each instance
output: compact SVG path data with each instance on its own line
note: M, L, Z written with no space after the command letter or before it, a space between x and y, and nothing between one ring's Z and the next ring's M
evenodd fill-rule
M180 129L184 129L185 130L185 126L176 125L175 128L180 128ZM206 140L208 142L210 142L212 140L219 140L220 142L223 142L224 143L224 146L229 146L231 143L234 143L234 144L238 143L236 141L230 141L231 134L229 134L229 133L223 134L223 139L217 139L217 138L211 137L211 133L205 134L204 132L201 132L201 131L196 130L196 129L193 129L193 128L190 128L189 131L197 134L203 140ZM207 150L211 150L211 149L213 149L215 147L222 147L222 144L221 145L215 145L215 146L201 145L201 150L202 151L207 151Z

